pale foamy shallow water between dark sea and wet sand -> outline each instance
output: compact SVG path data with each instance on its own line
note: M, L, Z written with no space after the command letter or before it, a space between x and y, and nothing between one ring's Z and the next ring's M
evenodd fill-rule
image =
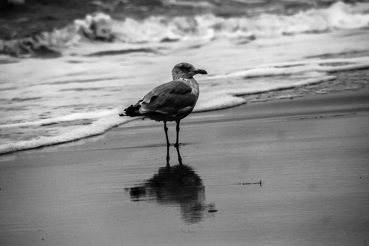
M316 24L321 17L329 22L322 29L326 33L306 34L300 26L310 23L308 30L320 30ZM295 88L295 94L287 97L297 97L304 95L307 85L337 84L337 72L369 67L368 18L365 8L337 3L254 17L201 13L168 20L158 15L140 21L113 19L111 28L118 39L112 43L79 38L62 45L58 58L1 56L0 153L102 134L130 121L118 113L170 81L178 62L190 62L209 73L196 76L200 97L195 112L245 104L245 96L255 93ZM296 28L294 35L285 35L290 33L286 28ZM50 34L54 46L68 30ZM162 38L175 42L160 42ZM367 83L362 80L356 86ZM332 84L316 90L330 93Z

